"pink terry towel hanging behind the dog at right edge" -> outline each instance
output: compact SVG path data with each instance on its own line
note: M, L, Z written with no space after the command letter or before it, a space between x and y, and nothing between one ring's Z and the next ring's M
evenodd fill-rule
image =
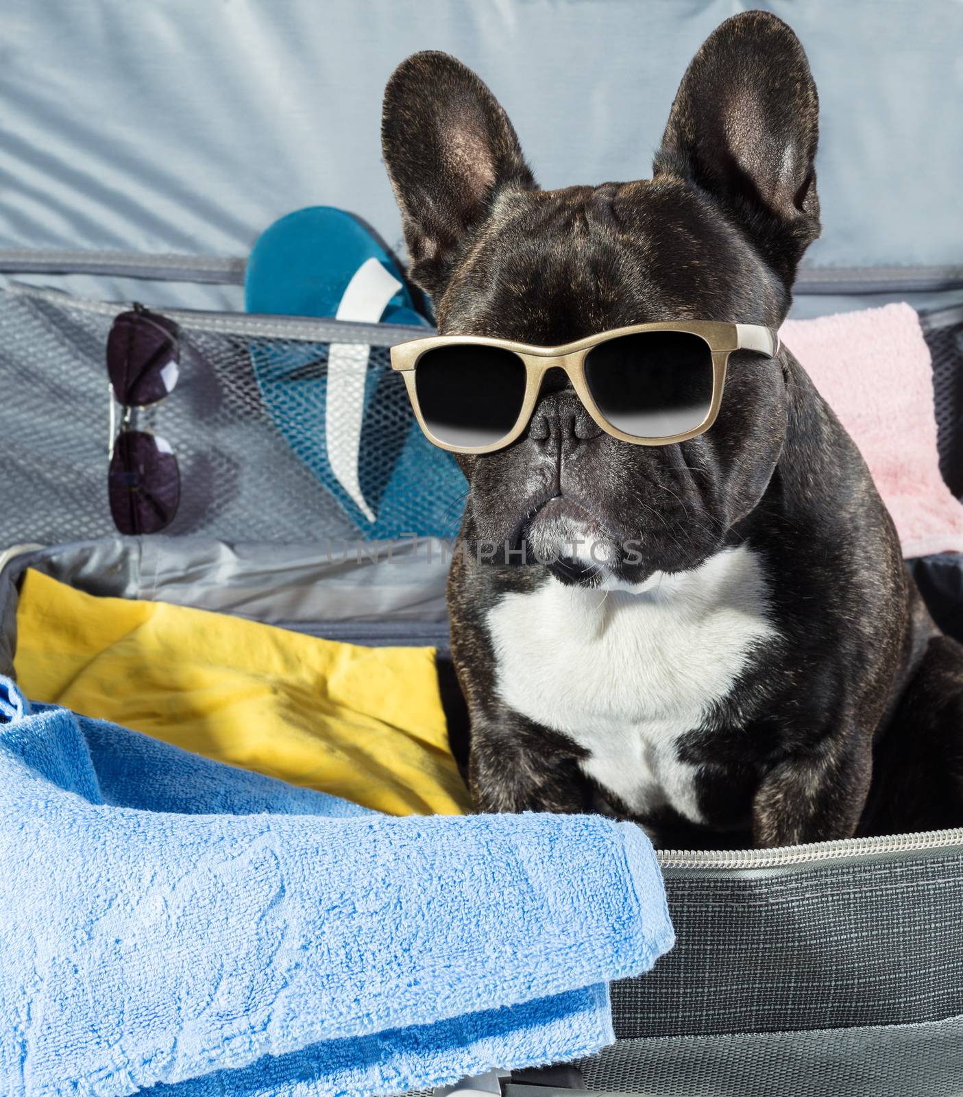
M940 475L929 348L905 304L788 320L780 331L865 457L904 556L963 552L963 505Z

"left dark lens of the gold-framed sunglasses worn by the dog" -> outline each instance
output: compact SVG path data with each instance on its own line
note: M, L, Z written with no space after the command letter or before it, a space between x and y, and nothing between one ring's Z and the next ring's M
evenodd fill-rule
M440 442L494 445L518 422L525 365L499 347L437 347L418 359L415 387L424 423Z

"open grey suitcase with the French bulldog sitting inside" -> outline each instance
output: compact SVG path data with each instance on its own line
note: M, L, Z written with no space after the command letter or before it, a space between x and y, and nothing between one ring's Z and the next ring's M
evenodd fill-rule
M57 35L49 3L12 7L21 48L4 56L0 81L13 168L0 210L0 672L12 668L18 580L30 566L94 595L364 644L437 645L464 757L444 657L447 561L429 535L454 532L457 501L444 528L437 514L426 523L418 499L393 495L394 540L359 554L359 539L374 543L294 452L292 438L314 438L319 425L270 407L256 377L264 361L324 377L332 343L370 347L363 487L383 500L397 453L377 438L410 426L386 348L415 332L231 310L243 260L206 255L240 255L273 217L318 201L396 239L378 102L392 68L419 48L479 71L523 142L532 136L546 185L643 176L684 65L733 4L508 0L486 21L446 0L383 4L381 20L369 5L328 5L320 18L310 0L291 0L272 5L268 34L258 5L213 19L209 5L173 0L148 26L138 5L105 21L98 5L60 3ZM963 162L948 113L963 80L961 10L950 0L764 7L800 34L823 102L826 239L792 315L897 299L919 310L941 470L963 496ZM277 73L310 111L272 105ZM573 120L589 110L577 147ZM148 420L183 485L173 524L149 538L120 536L106 497L104 347L132 299L173 318L196 352ZM963 557L913 568L938 623L963 637ZM506 1078L507 1094L963 1095L963 829L666 850L660 861L678 943L652 973L613 985L618 1042Z

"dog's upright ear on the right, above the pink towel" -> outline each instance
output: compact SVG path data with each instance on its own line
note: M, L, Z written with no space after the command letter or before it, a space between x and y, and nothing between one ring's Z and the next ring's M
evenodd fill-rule
M672 103L655 176L711 193L792 285L819 235L819 100L800 39L747 11L706 38Z

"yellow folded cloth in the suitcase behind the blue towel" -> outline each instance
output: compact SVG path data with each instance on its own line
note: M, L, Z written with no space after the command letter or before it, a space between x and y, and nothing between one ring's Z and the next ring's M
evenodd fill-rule
M27 570L14 669L34 701L393 815L458 815L434 648L359 647Z

